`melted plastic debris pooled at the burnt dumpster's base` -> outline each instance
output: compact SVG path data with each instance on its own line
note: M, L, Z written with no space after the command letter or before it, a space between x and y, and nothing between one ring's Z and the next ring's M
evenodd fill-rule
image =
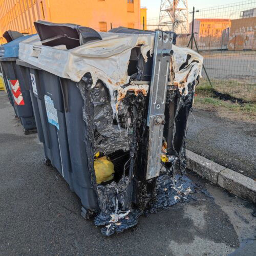
M104 202L109 205L104 205L105 214L99 214L94 218L96 226L103 226L101 232L105 236L111 236L115 232L119 233L125 229L129 229L138 224L138 218L148 213L159 212L164 209L169 209L172 205L178 202L188 202L195 197L190 194L195 193L197 187L188 177L184 175L176 175L175 179L169 174L162 174L156 181L156 201L151 205L150 209L140 211L138 209L132 210L118 210L118 199L120 200L120 194L115 193L117 184L112 182L106 185L106 191L102 191L104 195L109 195L108 201ZM104 186L98 186L99 189L104 189ZM119 187L118 187L119 188ZM118 189L117 188L117 189ZM112 189L111 193L110 190ZM122 196L121 196L122 197ZM126 198L125 196L123 197ZM103 202L103 200L102 200ZM124 201L123 201L124 202ZM124 205L123 205L124 206ZM125 208L125 207L124 207ZM112 209L112 212L109 211Z

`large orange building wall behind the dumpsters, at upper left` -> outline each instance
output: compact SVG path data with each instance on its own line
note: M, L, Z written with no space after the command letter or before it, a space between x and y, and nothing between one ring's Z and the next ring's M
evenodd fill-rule
M95 30L118 26L141 27L140 0L0 0L0 44L6 30L35 33L41 19L74 23Z

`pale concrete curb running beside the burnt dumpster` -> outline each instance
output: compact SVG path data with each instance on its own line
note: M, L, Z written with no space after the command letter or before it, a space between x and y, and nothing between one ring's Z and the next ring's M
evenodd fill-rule
M186 155L187 169L238 197L256 203L256 181L189 150L186 150Z

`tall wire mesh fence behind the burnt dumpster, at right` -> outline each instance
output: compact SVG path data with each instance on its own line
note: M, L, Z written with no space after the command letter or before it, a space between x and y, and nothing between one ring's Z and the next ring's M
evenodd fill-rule
M194 35L212 86L218 92L255 102L256 0L205 9L195 6L195 10ZM188 46L192 16L189 12L188 31L177 32L178 46ZM164 19L170 18L166 14ZM147 17L145 29L169 28L159 26L159 17ZM195 42L193 49L197 50ZM209 83L205 72L203 77L201 84Z

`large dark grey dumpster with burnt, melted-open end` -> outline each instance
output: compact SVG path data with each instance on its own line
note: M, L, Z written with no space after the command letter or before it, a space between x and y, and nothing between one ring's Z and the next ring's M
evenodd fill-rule
M58 26L55 31L67 29ZM42 35L40 22L36 28L41 42L21 42L19 59L31 92L40 91L37 114L47 129L64 134L49 141L59 150L58 143L67 143L70 165L62 176L81 199L82 216L94 217L110 235L185 198L191 186L181 184L175 170L185 165L202 56L175 46L172 32L97 33L78 26L73 37L62 32L69 40L55 44L56 32ZM84 40L91 33L93 39Z

